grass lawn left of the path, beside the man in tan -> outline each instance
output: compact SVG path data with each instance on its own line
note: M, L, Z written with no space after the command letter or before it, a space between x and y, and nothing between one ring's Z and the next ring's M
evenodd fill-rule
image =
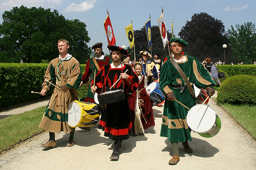
M0 120L0 151L14 146L20 140L37 132L46 106L22 114L11 115Z

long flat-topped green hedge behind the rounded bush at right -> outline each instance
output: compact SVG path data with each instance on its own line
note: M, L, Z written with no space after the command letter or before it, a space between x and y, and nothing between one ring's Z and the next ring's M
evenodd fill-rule
M256 75L256 65L217 65L217 67L225 71L229 77L240 74Z

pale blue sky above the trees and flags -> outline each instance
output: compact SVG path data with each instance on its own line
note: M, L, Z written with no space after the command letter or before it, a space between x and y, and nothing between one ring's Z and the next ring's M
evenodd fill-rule
M0 0L0 13L3 14L4 11L10 11L13 6L21 5L28 8L32 6L51 8L51 11L57 10L66 19L79 19L87 26L88 36L91 38L88 46L102 42L104 52L108 52L108 41L103 26L108 15L106 9L109 11L116 45L120 47L129 46L125 27L131 23L131 19L133 30L140 30L149 19L149 15L151 15L151 26L158 25L162 7L166 18L166 29L171 30L173 20L176 36L185 26L186 21L191 20L192 15L201 12L221 20L226 31L231 25L235 27L236 24L242 25L246 22L256 23L256 17L253 17L256 10L255 0ZM2 22L1 17L0 23Z

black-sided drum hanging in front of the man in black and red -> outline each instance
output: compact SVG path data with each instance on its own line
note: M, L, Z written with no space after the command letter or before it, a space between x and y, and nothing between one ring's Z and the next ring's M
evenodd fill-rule
M122 89L106 91L98 95L99 104L110 104L125 100L125 91Z

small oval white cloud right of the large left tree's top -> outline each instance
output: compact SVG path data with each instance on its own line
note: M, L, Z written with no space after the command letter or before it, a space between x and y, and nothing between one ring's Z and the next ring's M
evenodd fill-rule
M96 0L87 0L81 2L80 4L71 3L64 11L66 12L74 12L74 11L88 11L89 9L94 7Z

